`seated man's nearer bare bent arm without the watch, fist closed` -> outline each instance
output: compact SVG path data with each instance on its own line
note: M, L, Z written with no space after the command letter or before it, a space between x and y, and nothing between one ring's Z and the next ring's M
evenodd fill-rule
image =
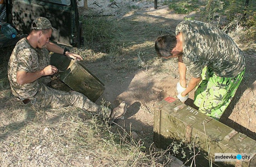
M42 70L35 72L17 71L17 82L20 85L34 82L42 76L53 75L58 69L55 66L49 65Z

